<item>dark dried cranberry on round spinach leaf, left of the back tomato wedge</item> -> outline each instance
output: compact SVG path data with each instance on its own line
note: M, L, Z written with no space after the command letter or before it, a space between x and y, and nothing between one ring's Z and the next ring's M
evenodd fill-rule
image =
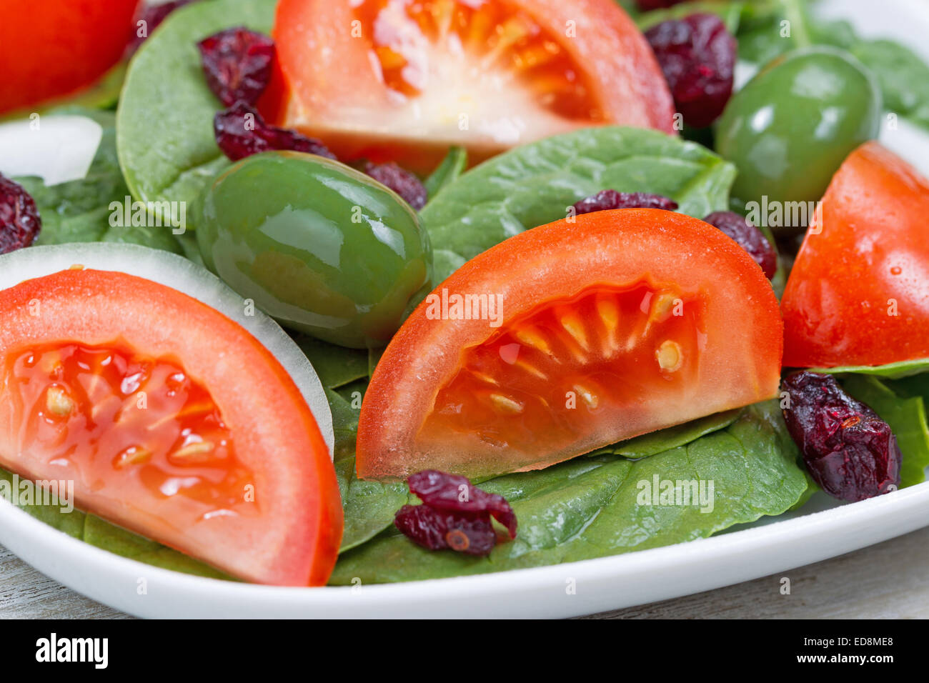
M271 80L274 41L244 26L226 29L197 44L206 84L225 106L255 104Z

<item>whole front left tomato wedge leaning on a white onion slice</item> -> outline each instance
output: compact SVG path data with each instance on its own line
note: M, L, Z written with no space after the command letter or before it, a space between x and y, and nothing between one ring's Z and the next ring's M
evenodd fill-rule
M326 583L342 535L334 468L255 337L101 270L0 292L0 321L0 465L73 479L81 508L242 579Z

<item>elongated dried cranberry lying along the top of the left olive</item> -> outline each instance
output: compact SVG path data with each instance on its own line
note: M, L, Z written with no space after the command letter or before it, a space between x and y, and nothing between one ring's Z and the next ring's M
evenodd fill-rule
M305 151L334 159L333 152L320 140L307 138L296 131L268 125L254 108L245 102L236 102L213 118L216 144L232 161L244 159L259 151Z

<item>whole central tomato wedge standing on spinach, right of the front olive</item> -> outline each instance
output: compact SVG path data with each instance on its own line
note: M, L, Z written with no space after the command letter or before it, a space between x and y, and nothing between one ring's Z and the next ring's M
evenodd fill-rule
M764 273L696 218L620 209L527 230L442 282L387 346L358 473L538 469L761 401L782 334Z

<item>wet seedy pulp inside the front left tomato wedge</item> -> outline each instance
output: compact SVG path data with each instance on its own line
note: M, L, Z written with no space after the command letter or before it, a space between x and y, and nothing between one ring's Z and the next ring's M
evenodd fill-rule
M179 363L119 346L51 344L7 356L7 398L21 451L70 461L101 488L123 470L152 495L183 495L203 515L252 515L254 473L235 456L216 402ZM104 492L106 493L106 492Z

